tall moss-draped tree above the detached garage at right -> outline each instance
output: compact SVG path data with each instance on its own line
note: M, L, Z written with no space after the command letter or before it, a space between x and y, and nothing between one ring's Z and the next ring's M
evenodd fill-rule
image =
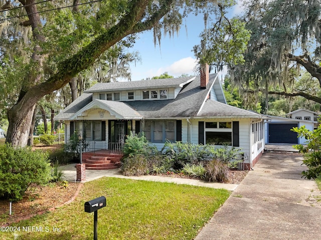
M248 91L264 91L266 99L268 94L279 94L321 103L313 92L292 87L301 69L321 87L321 1L247 1L245 9L243 19L251 38L244 53L245 62L230 65L232 80L244 88L252 84ZM293 70L297 73L293 74Z

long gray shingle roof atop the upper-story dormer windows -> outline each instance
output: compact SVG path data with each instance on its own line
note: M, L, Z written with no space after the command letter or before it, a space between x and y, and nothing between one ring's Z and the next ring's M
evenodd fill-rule
M84 92L107 92L134 89L154 89L168 87L182 87L195 77L160 78L140 81L104 82L97 83Z

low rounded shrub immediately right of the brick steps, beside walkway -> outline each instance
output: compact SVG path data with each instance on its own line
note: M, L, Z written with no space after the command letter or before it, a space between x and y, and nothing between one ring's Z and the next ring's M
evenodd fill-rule
M122 159L120 167L125 176L140 176L148 173L147 158L143 154L130 155Z

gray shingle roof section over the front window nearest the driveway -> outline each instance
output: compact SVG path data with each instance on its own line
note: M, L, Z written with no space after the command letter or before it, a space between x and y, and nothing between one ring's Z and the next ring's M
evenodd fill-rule
M237 118L264 118L263 115L256 112L244 110L242 108L231 106L211 99L206 100L198 116L213 116L215 118L226 116L233 116Z

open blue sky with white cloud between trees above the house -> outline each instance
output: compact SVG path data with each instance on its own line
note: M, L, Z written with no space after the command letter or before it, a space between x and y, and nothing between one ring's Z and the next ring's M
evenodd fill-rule
M229 11L228 17L242 13L241 0ZM186 24L186 27L185 27ZM193 46L200 43L199 35L204 29L203 15L190 15L183 20L180 32L170 37L163 36L161 47L153 43L152 31L145 31L140 34L134 46L129 52L138 51L141 62L130 64L131 80L141 80L146 77L158 76L168 72L174 77L184 73L195 75L194 67L196 58ZM222 75L225 72L223 70Z

